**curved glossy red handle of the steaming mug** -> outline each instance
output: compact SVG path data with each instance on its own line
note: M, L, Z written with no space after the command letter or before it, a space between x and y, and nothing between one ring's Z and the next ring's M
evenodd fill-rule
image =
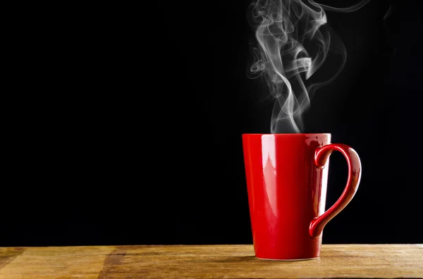
M344 209L348 203L353 199L355 193L357 192L358 185L360 183L361 174L362 174L362 166L360 162L360 157L355 152L353 148L350 146L340 143L331 143L328 145L320 146L314 152L314 165L322 169L329 156L333 151L341 152L348 163L348 180L345 189L341 197L329 208L321 214L320 216L315 217L309 227L309 235L312 238L318 238L323 231L324 226L326 223L331 221L333 217L335 217L342 209Z

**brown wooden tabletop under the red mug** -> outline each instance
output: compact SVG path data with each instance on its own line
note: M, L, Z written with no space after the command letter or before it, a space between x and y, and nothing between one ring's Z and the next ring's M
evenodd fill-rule
M423 278L423 245L323 245L310 261L252 245L5 247L0 278Z

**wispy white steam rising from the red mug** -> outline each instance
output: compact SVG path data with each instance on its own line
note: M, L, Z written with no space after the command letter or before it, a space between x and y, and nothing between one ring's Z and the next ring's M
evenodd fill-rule
M320 86L336 79L346 62L341 40L333 36L324 10L357 11L363 0L349 8L333 8L313 0L257 0L253 4L259 48L253 73L265 73L271 96L276 101L271 116L271 133L300 133L302 113ZM325 82L310 83L310 77L324 64L328 54L341 56L337 71Z

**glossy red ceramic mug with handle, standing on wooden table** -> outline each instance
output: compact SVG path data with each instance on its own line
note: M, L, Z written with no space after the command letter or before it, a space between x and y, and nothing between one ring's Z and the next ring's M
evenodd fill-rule
M255 256L300 260L320 257L324 226L353 199L360 157L331 134L243 134L245 174ZM348 163L341 197L326 212L329 155Z

